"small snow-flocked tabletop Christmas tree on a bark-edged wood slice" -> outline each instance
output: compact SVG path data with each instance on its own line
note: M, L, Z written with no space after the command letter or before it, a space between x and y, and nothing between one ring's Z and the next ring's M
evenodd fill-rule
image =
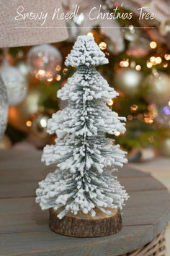
M77 71L58 91L68 106L48 121L48 132L58 138L44 148L42 161L58 168L39 183L36 202L50 209L50 227L60 234L104 236L121 229L119 209L128 194L113 172L127 160L105 134L124 133L125 118L107 106L118 93L95 69L107 63L92 36L79 36L66 59Z

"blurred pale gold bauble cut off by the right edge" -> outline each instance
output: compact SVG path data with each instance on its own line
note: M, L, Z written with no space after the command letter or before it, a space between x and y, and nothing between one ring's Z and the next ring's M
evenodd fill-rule
M149 86L145 95L148 103L166 105L170 101L170 77L168 74L153 70L153 74L146 77L143 85Z

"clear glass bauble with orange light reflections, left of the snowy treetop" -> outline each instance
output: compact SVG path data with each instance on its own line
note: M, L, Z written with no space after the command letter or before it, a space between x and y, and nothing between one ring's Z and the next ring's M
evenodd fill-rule
M32 75L38 80L51 82L55 77L58 67L61 67L63 57L54 46L43 44L30 48L27 63L30 64Z

